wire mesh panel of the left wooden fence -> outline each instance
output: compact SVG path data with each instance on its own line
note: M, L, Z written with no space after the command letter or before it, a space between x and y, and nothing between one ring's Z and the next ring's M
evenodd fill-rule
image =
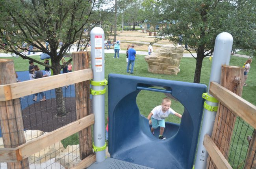
M80 87L85 86L78 85L78 90L83 90ZM40 94L38 95L37 100L34 99L35 97L33 94L21 97L20 99L9 101L11 102L11 104L14 105L14 107L15 105L20 105L20 109L22 112L22 117L20 117L20 120L23 121L24 130L19 130L18 133L24 132L26 143L77 120L76 111L79 110L76 109L74 85L63 86L62 92L63 101L65 103L64 106L66 109L66 114L64 114L63 116L57 116L58 105L56 105L57 102L54 89L44 92L46 96L45 101L40 101L42 99ZM77 97L77 99L78 98L79 97ZM87 107L88 105L85 106ZM0 107L1 109L8 109L6 105L1 105ZM80 107L80 109L83 109L83 107ZM15 109L13 116L13 118L8 119L8 123L14 123L13 120L18 118ZM2 119L0 123L3 124L6 123L6 121ZM4 132L4 130L2 130L1 137L5 134L12 135L12 133L6 133ZM88 136L91 136L91 134L86 133L86 135L80 135L80 137L83 138ZM63 140L60 140L50 145L50 147L46 147L41 151L30 155L28 157L29 168L67 169L73 167L81 161L79 151L79 139L79 134L77 132ZM4 147L3 141L0 142L0 144L1 147ZM88 145L89 143L87 142L83 143L83 146L85 147L88 147ZM5 168L7 168L6 163L1 163L0 169Z

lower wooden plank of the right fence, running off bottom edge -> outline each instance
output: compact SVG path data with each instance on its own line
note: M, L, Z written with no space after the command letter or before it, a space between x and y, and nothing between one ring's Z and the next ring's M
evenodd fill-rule
M226 158L208 134L204 136L203 144L218 169L232 169Z

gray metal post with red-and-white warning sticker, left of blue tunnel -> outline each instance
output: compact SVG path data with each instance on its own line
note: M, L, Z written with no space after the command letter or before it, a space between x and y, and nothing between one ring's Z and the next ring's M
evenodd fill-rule
M100 27L91 30L91 67L93 69L93 82L100 83L104 81L104 31ZM105 94L102 94L105 86L93 85L92 90L97 94L93 95L93 113L95 123L93 125L93 140L96 148L104 147L105 142ZM100 92L102 91L102 92ZM105 160L105 149L95 151L96 162Z

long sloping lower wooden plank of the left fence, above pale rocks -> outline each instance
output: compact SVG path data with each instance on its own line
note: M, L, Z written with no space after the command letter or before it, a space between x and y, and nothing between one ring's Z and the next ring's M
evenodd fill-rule
M19 156L22 157L19 158L19 161L93 124L94 114L90 114L84 118L69 123L57 130L35 138L32 141L24 143L17 147L19 149Z

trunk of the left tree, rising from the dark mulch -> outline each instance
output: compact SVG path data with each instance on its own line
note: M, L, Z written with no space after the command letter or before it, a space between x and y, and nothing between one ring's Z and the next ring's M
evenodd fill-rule
M52 66L55 66L56 69L53 69L53 75L58 75L60 74L60 64L59 62L56 64L52 61ZM55 89L55 95L56 95L56 108L57 108L57 116L61 117L64 116L66 112L66 107L65 107L65 100L63 99L63 92L62 92L62 87L56 88Z

